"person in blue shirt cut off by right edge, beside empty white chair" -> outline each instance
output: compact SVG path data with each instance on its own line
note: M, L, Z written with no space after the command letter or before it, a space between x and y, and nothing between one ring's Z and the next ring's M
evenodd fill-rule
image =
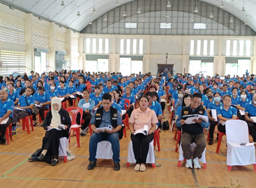
M253 142L256 143L256 124L251 117L256 116L256 94L253 95L253 101L245 105L245 122L247 122L249 133L253 137Z

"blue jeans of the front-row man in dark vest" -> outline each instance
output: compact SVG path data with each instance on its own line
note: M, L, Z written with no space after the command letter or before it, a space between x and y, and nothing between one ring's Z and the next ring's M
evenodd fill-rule
M118 132L108 134L106 132L100 132L100 133L93 133L90 138L89 143L89 152L90 152L90 161L96 161L96 151L97 151L97 144L98 142L101 142L103 140L107 140L112 145L113 150L113 161L114 162L120 162L120 144L119 144L119 134Z

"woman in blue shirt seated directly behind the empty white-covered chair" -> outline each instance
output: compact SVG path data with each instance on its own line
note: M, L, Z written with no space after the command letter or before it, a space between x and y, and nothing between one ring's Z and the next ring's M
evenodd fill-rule
M228 120L236 120L236 108L231 106L231 96L224 95L223 105L217 108L217 118L218 118L218 131L226 133L225 122ZM217 136L218 140L218 136Z

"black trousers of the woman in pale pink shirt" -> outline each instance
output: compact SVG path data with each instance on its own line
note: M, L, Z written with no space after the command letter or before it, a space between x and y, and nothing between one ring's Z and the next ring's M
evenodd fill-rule
M150 142L154 139L154 134L148 136L143 134L131 134L131 142L133 142L133 153L136 164L146 164Z

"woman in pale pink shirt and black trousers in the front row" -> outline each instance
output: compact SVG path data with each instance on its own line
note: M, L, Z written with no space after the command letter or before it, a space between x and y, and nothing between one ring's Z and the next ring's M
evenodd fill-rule
M146 171L146 160L150 142L154 139L154 130L158 118L156 113L148 107L149 99L146 96L139 98L139 108L134 109L129 120L129 129L131 131L131 141L133 142L133 152L136 159L135 171ZM148 126L148 135L135 134L135 130Z

